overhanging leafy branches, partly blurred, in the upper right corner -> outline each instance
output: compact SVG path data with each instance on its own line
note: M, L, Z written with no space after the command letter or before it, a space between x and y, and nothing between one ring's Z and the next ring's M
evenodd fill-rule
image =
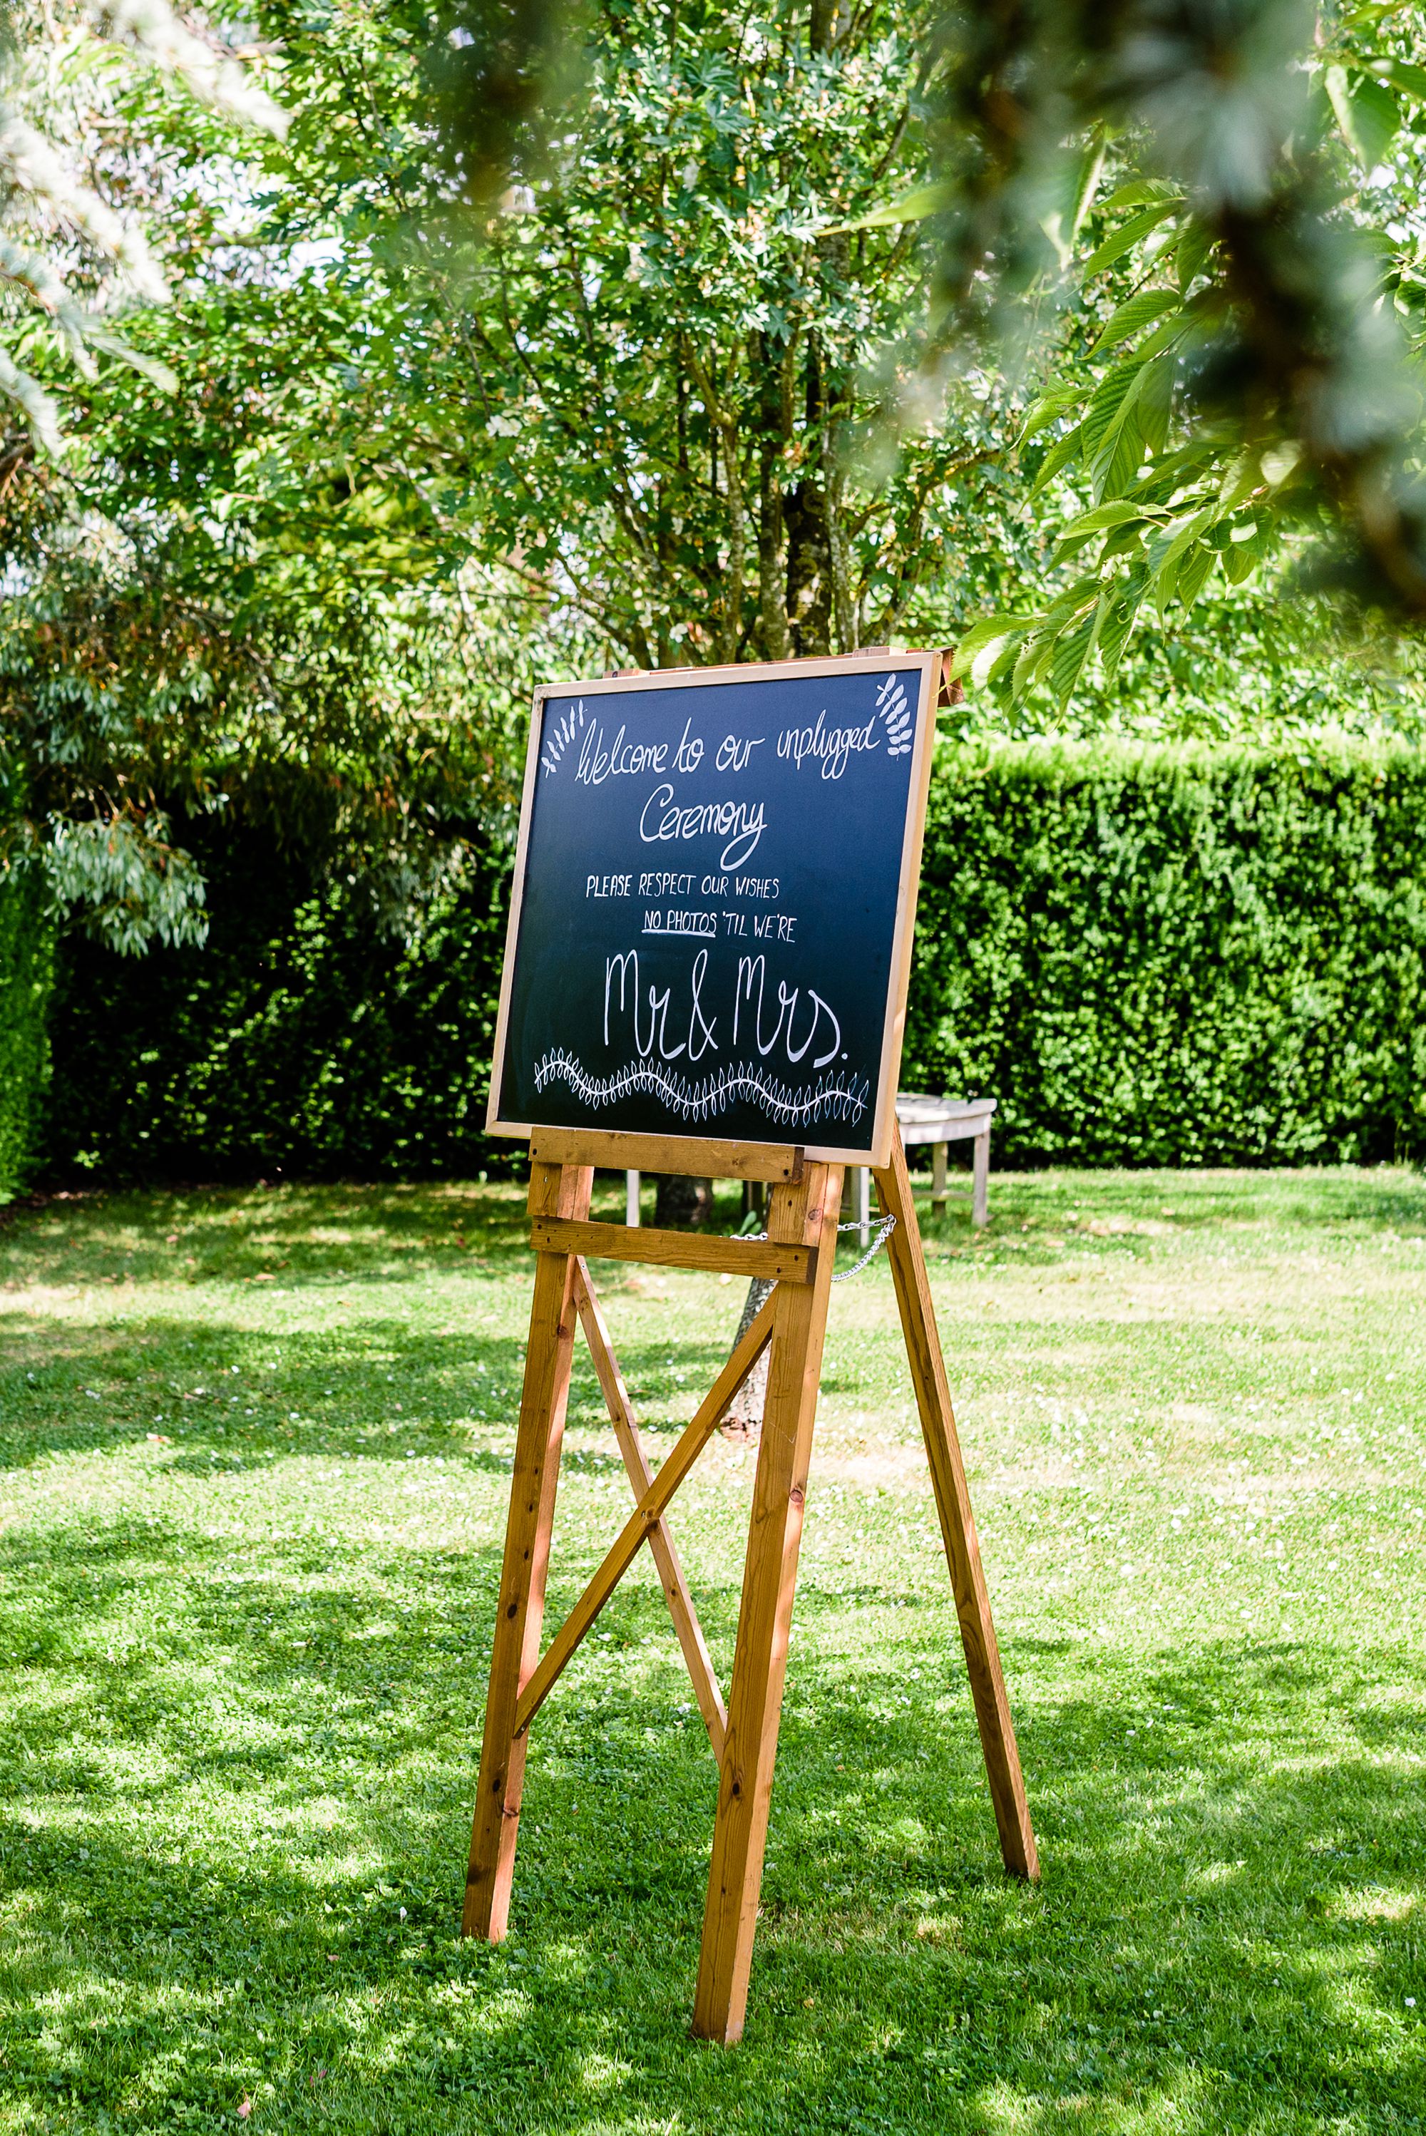
M1078 359L1025 427L1052 440L1035 493L1067 496L1074 570L961 662L1063 705L1148 602L1163 622L1304 532L1311 583L1420 624L1422 11L1029 0L941 36L941 175L886 218L935 218L963 333L1003 346L1016 299L1074 290Z

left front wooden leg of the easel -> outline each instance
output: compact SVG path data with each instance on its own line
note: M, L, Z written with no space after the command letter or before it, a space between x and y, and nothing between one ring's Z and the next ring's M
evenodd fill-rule
M589 1215L589 1166L532 1164L529 1213L583 1220ZM491 1687L485 1700L480 1784L470 1833L461 1935L497 1944L510 1914L510 1878L525 1784L527 1734L514 1734L514 1705L525 1677L540 1660L544 1574L555 1519L559 1446L574 1354L574 1269L568 1254L536 1254L525 1391L514 1440L506 1555L491 1647Z

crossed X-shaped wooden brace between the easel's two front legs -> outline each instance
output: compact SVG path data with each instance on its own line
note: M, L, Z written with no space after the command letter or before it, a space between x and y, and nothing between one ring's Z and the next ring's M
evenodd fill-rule
M717 1677L713 1675L713 1660L709 1655L709 1643L702 1636L702 1625L698 1623L698 1611L694 1608L694 1598L687 1591L687 1581L683 1576L683 1566L679 1564L679 1553L675 1540L668 1534L668 1523L664 1510L672 1499L675 1491L692 1470L694 1461L709 1444L717 1425L728 1412L728 1403L736 1395L739 1386L754 1369L762 1350L773 1335L773 1297L762 1305L762 1312L751 1322L743 1341L734 1348L732 1356L719 1371L717 1380L709 1388L707 1399L700 1403L698 1414L690 1425L683 1427L679 1442L660 1467L657 1476L649 1474L649 1461L645 1459L643 1440L638 1435L638 1423L634 1418L634 1405L630 1401L630 1391L623 1384L623 1373L619 1371L619 1358L615 1356L613 1344L608 1339L608 1326L604 1314L600 1312L600 1301L596 1297L593 1284L589 1282L589 1269L583 1258L574 1262L574 1305L579 1307L579 1318L585 1329L585 1339L589 1344L589 1354L593 1356L593 1369L600 1376L600 1386L604 1388L604 1401L608 1403L608 1414L615 1427L615 1438L619 1440L619 1452L623 1457L623 1467L628 1470L630 1482L634 1487L634 1497L638 1504L625 1521L623 1529L615 1538L604 1564L593 1574L583 1596L566 1617L564 1625L555 1638L544 1649L540 1664L519 1694L514 1707L514 1734L523 1737L529 1722L536 1717L544 1700L549 1698L555 1681L579 1647L581 1638L593 1625L596 1617L608 1602L611 1593L632 1566L638 1555L640 1544L649 1542L653 1551L653 1561L660 1570L660 1581L664 1583L664 1598L668 1600L668 1615L672 1617L675 1632L679 1634L679 1647L683 1649L683 1660L687 1662L687 1672L694 1681L694 1696L698 1698L698 1711L702 1713L704 1726L709 1730L709 1743L713 1745L713 1756L722 1762L724 1739L728 1734L728 1709L724 1707L724 1694L717 1687Z

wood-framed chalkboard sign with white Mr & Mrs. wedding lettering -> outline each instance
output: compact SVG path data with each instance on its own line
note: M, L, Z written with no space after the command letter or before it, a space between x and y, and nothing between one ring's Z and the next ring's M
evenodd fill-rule
M886 1164L937 654L536 694L489 1128Z

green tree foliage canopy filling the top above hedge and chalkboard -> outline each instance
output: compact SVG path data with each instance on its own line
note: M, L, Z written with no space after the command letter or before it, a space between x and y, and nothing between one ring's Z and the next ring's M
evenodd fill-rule
M107 49L45 111L171 301L30 350L0 716L111 944L201 933L194 812L399 923L536 673L901 637L967 733L1415 733L1415 9L267 0L267 132Z

